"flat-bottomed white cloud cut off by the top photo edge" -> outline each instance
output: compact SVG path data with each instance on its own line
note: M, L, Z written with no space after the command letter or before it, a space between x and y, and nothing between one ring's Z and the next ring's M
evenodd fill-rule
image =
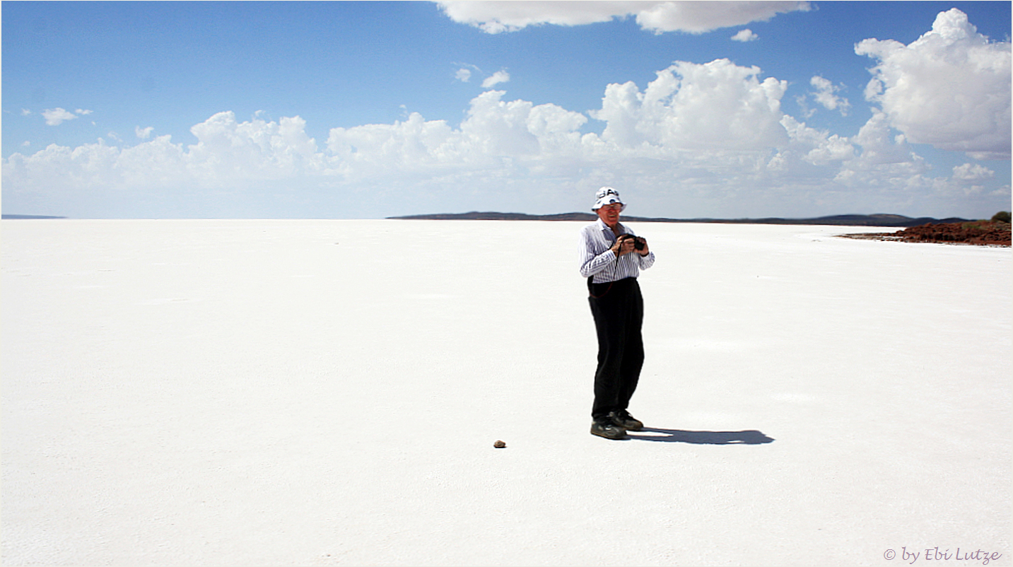
M703 33L721 27L766 21L779 13L807 11L808 2L700 1L525 1L447 0L438 2L452 20L486 33L517 31L529 25L583 25L634 16L641 28L661 33Z

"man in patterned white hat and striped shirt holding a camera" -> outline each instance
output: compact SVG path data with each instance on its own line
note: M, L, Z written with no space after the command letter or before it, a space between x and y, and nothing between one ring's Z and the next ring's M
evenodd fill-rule
M598 221L580 231L580 275L588 278L591 313L598 331L598 370L592 434L621 439L643 423L627 411L643 366L643 298L640 269L654 263L647 241L619 223L626 205L612 187L596 193Z

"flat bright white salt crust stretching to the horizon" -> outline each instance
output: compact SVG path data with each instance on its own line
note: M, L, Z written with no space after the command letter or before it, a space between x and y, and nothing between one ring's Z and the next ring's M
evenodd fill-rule
M3 564L1010 564L1010 249L633 225L610 441L580 226L4 221Z

